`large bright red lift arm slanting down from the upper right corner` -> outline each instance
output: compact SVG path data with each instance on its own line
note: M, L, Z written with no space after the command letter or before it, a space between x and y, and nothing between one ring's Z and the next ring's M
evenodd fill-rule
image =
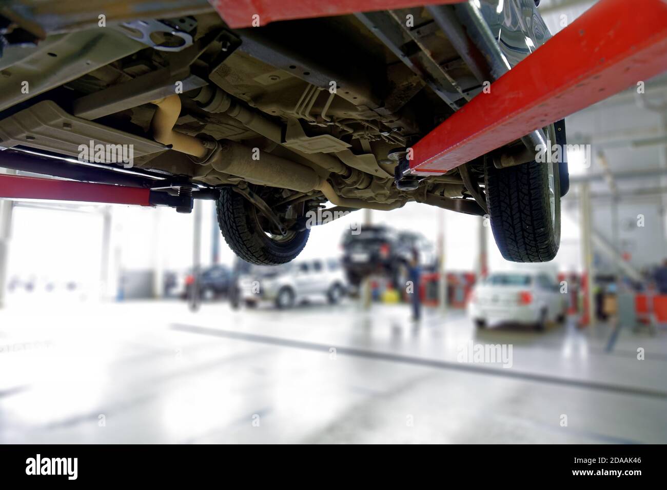
M442 174L667 69L667 1L601 0L413 147Z

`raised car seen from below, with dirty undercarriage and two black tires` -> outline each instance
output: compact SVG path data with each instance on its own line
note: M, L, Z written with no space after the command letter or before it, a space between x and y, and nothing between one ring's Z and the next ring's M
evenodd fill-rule
M414 143L548 39L534 0L243 29L206 1L125 3L141 15L104 1L0 11L1 167L149 187L183 212L215 199L225 240L257 264L298 255L327 202L490 215L506 259L556 255L567 167L536 151L565 144L562 121L446 173L409 165Z

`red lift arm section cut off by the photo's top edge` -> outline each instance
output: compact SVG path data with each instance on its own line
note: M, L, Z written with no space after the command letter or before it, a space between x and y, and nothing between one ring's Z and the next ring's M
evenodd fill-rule
M273 21L460 2L461 0L209 0L232 29L252 27L253 21L257 27ZM255 15L258 17L254 17Z

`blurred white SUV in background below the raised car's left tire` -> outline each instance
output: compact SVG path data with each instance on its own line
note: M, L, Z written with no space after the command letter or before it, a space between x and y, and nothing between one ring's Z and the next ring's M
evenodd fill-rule
M272 301L285 309L313 297L336 304L347 291L345 273L336 259L255 266L239 277L238 284L241 299L248 307Z

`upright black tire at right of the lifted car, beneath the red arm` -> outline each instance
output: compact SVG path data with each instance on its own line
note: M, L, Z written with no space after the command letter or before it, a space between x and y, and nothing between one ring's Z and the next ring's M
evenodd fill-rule
M491 229L502 256L512 262L547 262L560 245L560 177L554 163L552 218L549 163L496 169L486 158L484 185Z

